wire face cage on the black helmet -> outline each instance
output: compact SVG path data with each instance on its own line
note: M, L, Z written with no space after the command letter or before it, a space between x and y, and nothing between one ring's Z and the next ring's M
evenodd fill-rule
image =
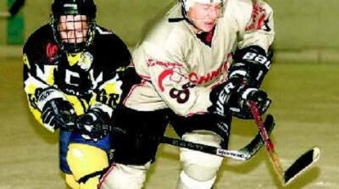
M59 29L59 22L60 22L61 16L66 16L66 17L73 16L74 17L76 15L59 15L59 16L52 15L52 28L53 28L54 38L57 41L60 49L67 53L79 53L79 52L85 51L93 43L96 21L90 18L89 16L87 16L88 28L86 29L88 29L88 31L86 33L86 36L76 37L74 33L74 37L68 37L67 27L66 27L66 30ZM73 22L74 23L73 26L75 28L75 23L82 22L82 20L65 21L65 23L67 22ZM80 28L80 29L82 30L83 28ZM62 38L60 34L61 32L66 32L67 37ZM74 29L74 32L76 32L75 29ZM63 41L63 40L66 40L66 41ZM67 42L69 40L75 40L75 42ZM76 43L77 40L82 40L83 42Z

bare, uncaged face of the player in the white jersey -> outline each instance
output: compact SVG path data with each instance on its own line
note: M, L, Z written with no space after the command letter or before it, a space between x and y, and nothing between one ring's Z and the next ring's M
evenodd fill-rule
M195 3L187 12L194 25L205 32L210 31L221 16L222 3Z

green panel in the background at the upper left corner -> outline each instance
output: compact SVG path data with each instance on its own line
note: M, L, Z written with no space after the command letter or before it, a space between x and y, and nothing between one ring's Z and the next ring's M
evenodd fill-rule
M15 0L8 0L10 8ZM7 44L21 45L24 42L24 17L22 13L7 20Z

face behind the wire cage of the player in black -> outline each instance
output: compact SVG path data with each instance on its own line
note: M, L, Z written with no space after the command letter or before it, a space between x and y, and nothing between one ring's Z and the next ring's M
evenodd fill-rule
M89 24L84 15L61 16L59 32L62 42L80 43L88 38Z

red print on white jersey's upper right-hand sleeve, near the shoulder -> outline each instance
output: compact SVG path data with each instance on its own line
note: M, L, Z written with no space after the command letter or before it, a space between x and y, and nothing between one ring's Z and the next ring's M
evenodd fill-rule
M253 12L251 16L251 22L246 27L245 31L252 29L262 29L264 20L266 18L266 10L258 3L253 3Z

